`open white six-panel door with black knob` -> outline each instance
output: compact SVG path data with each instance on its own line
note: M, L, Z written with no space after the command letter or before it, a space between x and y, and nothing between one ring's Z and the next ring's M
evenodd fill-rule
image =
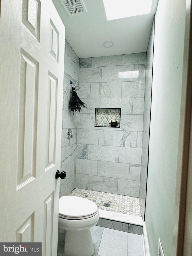
M65 29L51 0L2 0L0 25L0 238L55 256Z

